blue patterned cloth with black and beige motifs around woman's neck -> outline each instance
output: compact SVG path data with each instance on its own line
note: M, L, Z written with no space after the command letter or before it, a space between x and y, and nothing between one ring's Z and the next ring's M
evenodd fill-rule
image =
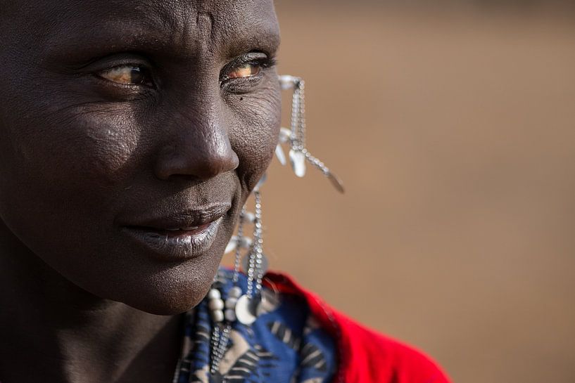
M232 271L221 269L217 287L227 298ZM239 286L246 292L247 279ZM177 383L329 383L336 372L333 339L310 315L301 297L265 288L265 313L250 326L234 323L219 372L210 377L213 323L207 299L190 311L185 325L184 357Z

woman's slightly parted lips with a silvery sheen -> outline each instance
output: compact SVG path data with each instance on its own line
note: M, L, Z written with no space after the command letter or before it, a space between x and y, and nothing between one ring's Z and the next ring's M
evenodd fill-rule
M163 261L184 261L205 254L230 205L189 210L157 219L135 220L122 232Z

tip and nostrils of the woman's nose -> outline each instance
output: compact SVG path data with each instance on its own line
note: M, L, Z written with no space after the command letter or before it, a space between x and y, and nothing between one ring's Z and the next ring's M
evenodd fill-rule
M157 157L156 177L206 180L238 167L239 159L229 142L227 126L221 123L217 110L178 120L177 126L168 129L169 139Z

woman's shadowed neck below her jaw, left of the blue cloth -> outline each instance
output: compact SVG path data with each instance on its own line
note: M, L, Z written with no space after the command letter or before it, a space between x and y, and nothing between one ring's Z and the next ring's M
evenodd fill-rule
M180 318L101 299L0 227L0 380L170 382Z

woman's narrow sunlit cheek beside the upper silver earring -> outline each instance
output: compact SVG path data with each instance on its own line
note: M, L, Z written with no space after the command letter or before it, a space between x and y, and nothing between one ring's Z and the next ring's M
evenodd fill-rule
M270 164L277 145L282 103L279 89L259 96L243 96L232 104L234 122L229 141L240 164L242 185L252 190Z

